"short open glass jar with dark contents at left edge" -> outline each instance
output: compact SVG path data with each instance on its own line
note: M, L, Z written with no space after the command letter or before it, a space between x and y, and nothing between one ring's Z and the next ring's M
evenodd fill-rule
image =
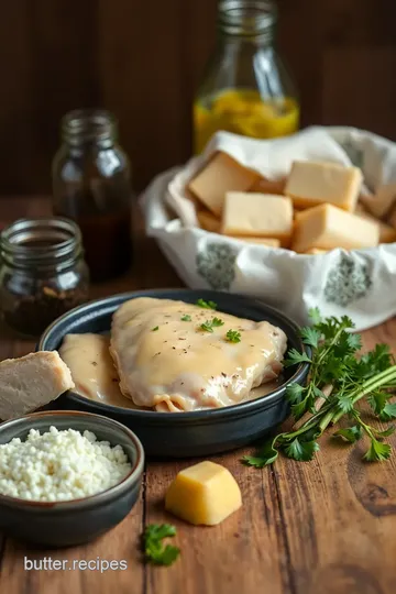
M40 336L88 299L81 233L68 219L20 219L0 235L0 305L6 322Z

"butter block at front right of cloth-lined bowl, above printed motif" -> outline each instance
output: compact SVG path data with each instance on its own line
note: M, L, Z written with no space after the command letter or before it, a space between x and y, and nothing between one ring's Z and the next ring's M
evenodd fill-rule
M378 224L332 205L319 205L297 218L293 250L358 250L378 244Z

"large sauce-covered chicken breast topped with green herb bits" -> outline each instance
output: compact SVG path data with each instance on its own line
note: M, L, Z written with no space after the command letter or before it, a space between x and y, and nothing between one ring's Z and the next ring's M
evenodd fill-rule
M239 342L227 339L230 330L239 332ZM239 404L280 373L285 350L285 333L266 321L183 301L136 298L112 319L110 352L120 389L136 406L156 410Z

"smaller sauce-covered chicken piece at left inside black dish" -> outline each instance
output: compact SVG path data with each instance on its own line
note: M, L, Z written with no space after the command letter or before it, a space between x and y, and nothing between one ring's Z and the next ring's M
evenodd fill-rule
M109 346L110 337L89 332L66 334L59 354L72 372L74 392L99 403L138 408L120 391L120 380Z

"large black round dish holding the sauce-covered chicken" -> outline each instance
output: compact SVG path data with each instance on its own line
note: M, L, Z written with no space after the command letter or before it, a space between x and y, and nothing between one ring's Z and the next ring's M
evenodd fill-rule
M228 293L189 289L125 293L78 307L47 328L40 340L38 350L58 349L67 333L108 332L116 309L135 297L179 299L187 302L196 302L199 298L212 300L218 304L219 311L255 321L267 320L278 326L288 338L288 348L300 352L304 350L298 327L263 301ZM305 363L297 369L286 370L285 382L304 383L308 369ZM262 438L288 414L285 389L286 384L255 400L194 413L154 413L119 408L89 400L73 392L55 400L55 406L99 413L119 420L136 433L148 455L187 458L231 450Z

